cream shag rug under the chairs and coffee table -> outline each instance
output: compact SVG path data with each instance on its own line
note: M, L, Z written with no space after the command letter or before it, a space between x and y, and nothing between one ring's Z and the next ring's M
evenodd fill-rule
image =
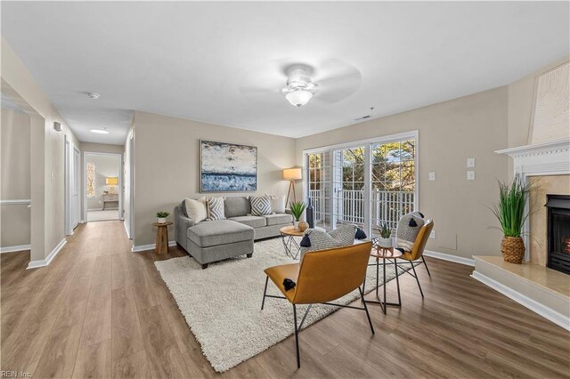
M261 310L267 267L294 262L280 238L256 242L252 258L233 258L210 263L201 270L191 256L155 262L168 289L173 294L188 326L202 351L217 372L224 372L256 356L294 333L293 307L284 299L265 299ZM371 263L375 262L371 259ZM403 270L400 269L399 274ZM382 268L379 270L382 282ZM393 265L387 266L387 280L395 278ZM365 292L376 283L376 267L369 266ZM267 294L281 295L270 280ZM358 290L338 299L348 304L360 296ZM300 319L306 306L297 306ZM324 318L338 307L315 304L303 328ZM373 307L369 311L378 312ZM362 311L362 318L366 315Z

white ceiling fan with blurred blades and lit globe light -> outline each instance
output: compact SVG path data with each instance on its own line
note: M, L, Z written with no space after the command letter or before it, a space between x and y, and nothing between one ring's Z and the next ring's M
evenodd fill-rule
M291 105L302 107L312 99L325 104L344 100L361 85L360 71L342 60L289 62L273 60L249 70L240 81L240 93L261 102L282 101L285 96Z

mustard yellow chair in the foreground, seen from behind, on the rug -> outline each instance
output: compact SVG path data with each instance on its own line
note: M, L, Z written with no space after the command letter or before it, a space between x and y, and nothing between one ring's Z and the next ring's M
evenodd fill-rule
M364 242L353 246L313 251L306 253L301 262L282 264L265 269L267 278L265 278L264 299L261 302L261 309L264 309L266 297L287 299L293 304L297 367L301 367L298 333L301 327L303 327L309 310L311 310L311 304L322 303L337 307L364 310L368 318L368 323L371 326L372 334L374 334L374 327L372 327L371 316L368 313L366 302L362 302L363 308L331 302L345 294L353 292L356 288L358 288L361 300L364 299L360 286L366 275L371 248L371 242ZM284 296L267 294L267 283L270 278ZM293 280L296 286L286 291L283 286L283 280L285 278ZM309 307L297 327L298 304L309 304Z

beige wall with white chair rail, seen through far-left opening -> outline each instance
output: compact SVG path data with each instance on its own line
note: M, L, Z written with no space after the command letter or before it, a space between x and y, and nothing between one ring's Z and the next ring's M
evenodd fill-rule
M30 198L29 116L14 109L2 109L0 125L0 198ZM27 205L2 206L0 246L29 245L30 210Z

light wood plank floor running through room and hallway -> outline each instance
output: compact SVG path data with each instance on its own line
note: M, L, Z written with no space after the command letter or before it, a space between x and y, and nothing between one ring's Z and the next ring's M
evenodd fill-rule
M153 264L183 254L131 253L118 221L79 226L43 269L25 270L28 253L2 254L2 370L65 378L570 376L566 330L470 278L472 268L434 259L431 279L419 268L425 300L406 275L402 310L384 316L371 306L376 335L363 312L339 310L301 332L301 369L289 337L219 375Z

